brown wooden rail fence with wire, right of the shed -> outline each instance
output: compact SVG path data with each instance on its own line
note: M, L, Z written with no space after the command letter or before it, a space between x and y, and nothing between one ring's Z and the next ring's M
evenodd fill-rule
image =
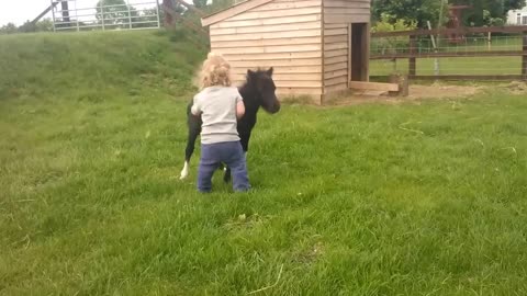
M498 31L497 29L493 29ZM527 27L525 32L436 34L426 32L391 36L373 35L370 75L393 72L411 77L527 78ZM436 32L437 33L437 32ZM431 34L431 33L430 33Z

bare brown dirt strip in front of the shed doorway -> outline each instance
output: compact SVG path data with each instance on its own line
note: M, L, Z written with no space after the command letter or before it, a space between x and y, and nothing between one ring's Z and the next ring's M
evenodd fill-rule
M410 87L408 96L390 96L381 91L355 92L349 96L340 96L328 100L327 105L355 105L363 103L385 103L397 104L407 101L418 101L426 99L457 99L470 98L486 87L482 86L455 86L446 83L433 83L430 86L414 84Z

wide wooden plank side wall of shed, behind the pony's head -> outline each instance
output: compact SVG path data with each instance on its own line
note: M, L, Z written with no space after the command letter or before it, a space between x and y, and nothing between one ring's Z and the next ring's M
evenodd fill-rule
M322 0L276 0L211 25L210 34L236 82L248 68L272 66L279 94L321 96Z

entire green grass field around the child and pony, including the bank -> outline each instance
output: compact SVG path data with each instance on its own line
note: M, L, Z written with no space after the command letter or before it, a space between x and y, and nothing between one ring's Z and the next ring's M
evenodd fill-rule
M178 175L202 56L0 37L0 295L527 294L525 95L284 105L255 190L201 195L197 158Z

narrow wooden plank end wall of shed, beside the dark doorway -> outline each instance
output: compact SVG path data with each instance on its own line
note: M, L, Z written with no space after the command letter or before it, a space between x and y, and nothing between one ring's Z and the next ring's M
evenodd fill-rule
M324 0L324 93L348 89L350 23L370 22L370 0Z

